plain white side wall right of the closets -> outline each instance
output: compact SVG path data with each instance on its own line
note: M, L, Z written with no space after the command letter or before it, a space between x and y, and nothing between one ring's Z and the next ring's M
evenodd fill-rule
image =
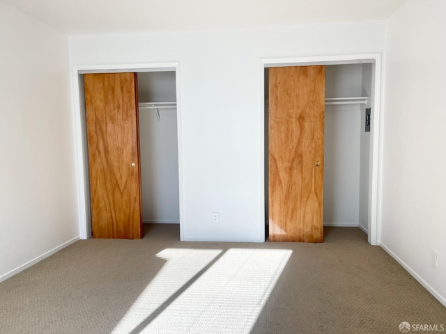
M446 1L387 24L380 242L446 305ZM430 266L431 249L438 268Z

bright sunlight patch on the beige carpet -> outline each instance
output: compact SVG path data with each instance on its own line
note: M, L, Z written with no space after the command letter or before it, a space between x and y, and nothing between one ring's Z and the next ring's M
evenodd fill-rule
M113 333L249 333L292 250L221 252L163 250L166 264Z

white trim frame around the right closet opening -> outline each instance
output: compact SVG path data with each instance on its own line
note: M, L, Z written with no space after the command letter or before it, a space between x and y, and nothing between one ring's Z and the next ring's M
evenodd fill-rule
M372 113L371 127L371 150L369 160L369 216L368 216L368 241L371 245L377 245L380 231L380 197L381 197L381 127L382 118L381 91L382 81L382 54L380 52L371 54L344 54L332 56L305 56L305 57L286 57L286 58L261 58L259 63L260 77L260 164L259 164L259 204L260 204L260 223L259 239L265 240L265 68L283 67L283 66L305 66L305 65L347 65L347 64L374 64L374 86L372 87L374 96L374 112Z

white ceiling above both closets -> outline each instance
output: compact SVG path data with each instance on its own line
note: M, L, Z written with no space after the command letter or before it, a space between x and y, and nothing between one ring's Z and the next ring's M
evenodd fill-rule
M387 19L406 0L3 0L68 34Z

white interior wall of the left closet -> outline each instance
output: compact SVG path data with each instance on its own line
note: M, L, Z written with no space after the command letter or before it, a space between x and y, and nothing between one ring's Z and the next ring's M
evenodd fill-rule
M176 101L175 72L138 73L139 102ZM179 223L176 108L139 108L142 218L144 223Z

